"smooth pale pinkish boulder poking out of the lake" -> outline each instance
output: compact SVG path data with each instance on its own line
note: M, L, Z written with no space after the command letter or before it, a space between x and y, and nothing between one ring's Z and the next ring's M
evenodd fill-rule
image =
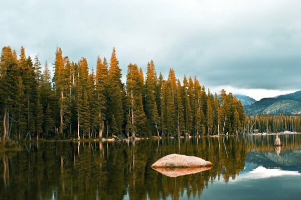
M152 165L153 168L197 168L203 166L212 166L212 162L206 161L200 157L176 153L166 155Z

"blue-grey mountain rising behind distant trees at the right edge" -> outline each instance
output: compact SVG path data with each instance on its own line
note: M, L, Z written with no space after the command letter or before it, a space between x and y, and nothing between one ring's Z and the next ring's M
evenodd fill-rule
M248 115L301 114L301 90L273 98L262 98L250 105L244 105L244 111Z

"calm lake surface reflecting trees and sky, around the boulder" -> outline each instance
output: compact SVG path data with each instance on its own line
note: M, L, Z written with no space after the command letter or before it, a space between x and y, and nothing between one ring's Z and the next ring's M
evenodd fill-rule
M21 143L0 154L0 199L300 199L301 134ZM180 153L213 163L169 177L150 167Z

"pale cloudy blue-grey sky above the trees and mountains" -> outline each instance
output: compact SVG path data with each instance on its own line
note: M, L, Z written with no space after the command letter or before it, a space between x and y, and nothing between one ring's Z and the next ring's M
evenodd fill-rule
M0 7L0 47L24 46L42 65L56 47L77 62L109 60L115 47L122 74L196 76L217 92L256 100L301 90L299 0L6 0Z

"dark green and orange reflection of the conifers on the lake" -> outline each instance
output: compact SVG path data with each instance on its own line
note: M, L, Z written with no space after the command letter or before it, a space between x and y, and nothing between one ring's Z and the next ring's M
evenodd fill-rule
M6 192L0 192L0 199L179 199L184 193L200 197L215 179L234 179L244 168L249 151L279 156L280 150L301 149L301 135L280 135L281 149L274 148L274 138L250 135L24 144L17 154L1 154L0 189ZM211 161L213 167L177 177L150 167L171 153L198 156Z

